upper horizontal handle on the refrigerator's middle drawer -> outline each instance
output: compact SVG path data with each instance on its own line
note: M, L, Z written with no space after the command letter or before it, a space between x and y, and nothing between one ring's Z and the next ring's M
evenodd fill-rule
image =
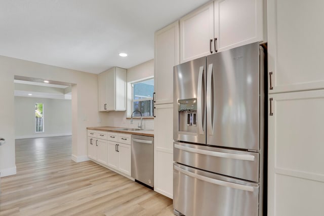
M240 155L240 154L233 154L233 153L224 153L224 152L213 152L203 149L194 149L190 147L180 146L178 144L174 144L174 148L180 149L186 152L197 153L201 155L208 155L220 158L229 158L229 159L236 159L236 160L245 160L245 161L254 161L255 157L253 155Z

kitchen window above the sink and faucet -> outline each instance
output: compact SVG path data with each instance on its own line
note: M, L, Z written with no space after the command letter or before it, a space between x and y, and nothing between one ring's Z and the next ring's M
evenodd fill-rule
M133 111L140 111L143 116L153 116L154 79L133 83ZM133 117L140 117L136 112Z

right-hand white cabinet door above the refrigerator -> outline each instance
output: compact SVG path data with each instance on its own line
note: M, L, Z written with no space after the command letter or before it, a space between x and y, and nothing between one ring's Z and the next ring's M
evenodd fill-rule
M263 0L214 2L218 51L263 41Z

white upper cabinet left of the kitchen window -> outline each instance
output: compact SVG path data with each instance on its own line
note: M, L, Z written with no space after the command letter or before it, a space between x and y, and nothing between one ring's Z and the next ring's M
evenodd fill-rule
M126 111L126 88L126 69L113 67L99 74L99 111Z

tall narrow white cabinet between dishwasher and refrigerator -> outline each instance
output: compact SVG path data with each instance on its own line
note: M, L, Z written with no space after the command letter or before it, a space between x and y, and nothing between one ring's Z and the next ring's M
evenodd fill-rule
M154 35L154 190L173 198L173 66L179 64L179 21Z

